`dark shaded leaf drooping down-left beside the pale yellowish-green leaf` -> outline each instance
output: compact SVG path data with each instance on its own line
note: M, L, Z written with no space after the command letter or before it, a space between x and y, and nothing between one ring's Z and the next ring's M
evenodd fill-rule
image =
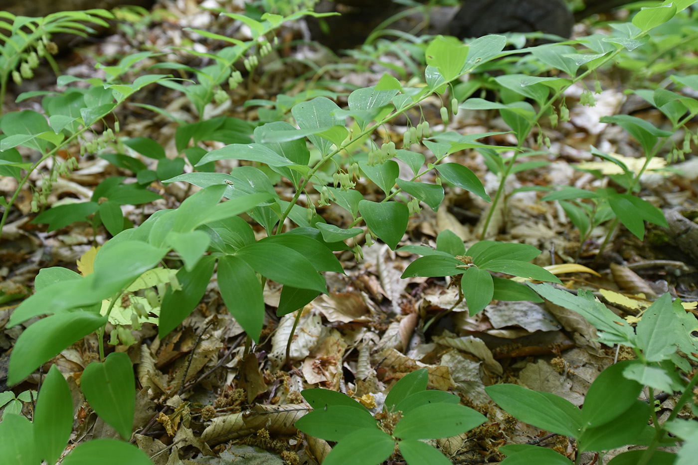
M201 302L209 281L211 281L215 261L216 259L213 256L202 257L191 272L185 268L177 272L177 281L179 281L181 289L172 290L172 286L168 286L160 304L160 320L158 323L158 336L160 339L184 321L184 318L189 316Z

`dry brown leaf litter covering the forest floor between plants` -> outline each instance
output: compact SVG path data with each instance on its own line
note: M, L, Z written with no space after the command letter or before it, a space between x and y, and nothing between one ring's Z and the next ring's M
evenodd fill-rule
M153 20L142 29L123 29L96 40L80 43L59 59L61 71L78 77L102 73L95 69L98 57L120 57L138 51L168 50L186 43L192 34L182 29L198 27L219 34L245 38L244 28L225 22L216 15L197 8L195 1L162 3ZM588 26L577 25L577 34ZM324 87L338 92L340 106L352 86L376 84L390 71L378 62L368 63L350 57L338 58L322 47L292 43L302 38L302 28L289 27L281 37L276 62L262 64L262 71L246 77L229 101L210 105L211 115L228 115L246 121L258 120L258 109L245 106L253 98L274 100L278 94L297 94ZM209 44L209 42L207 42ZM208 46L208 45L207 45ZM195 50L207 46L193 44ZM386 52L381 57L400 64L399 57ZM100 58L101 59L101 58ZM185 52L168 52L170 61L190 66L205 66L205 59ZM308 65L313 63L314 67ZM332 64L348 66L329 66ZM50 73L50 71L47 71ZM509 179L507 192L526 186L603 187L604 181L586 170L611 170L610 163L590 165L593 145L603 152L639 153L637 141L618 128L599 122L604 115L620 113L639 116L658 127L665 123L662 114L642 105L623 92L615 71L599 75L604 91L596 96L596 105L578 105L581 87L567 93L570 121L557 128L545 128L551 140L548 155L531 156L523 161L544 161ZM409 79L409 77L408 77ZM54 76L37 77L7 98L6 110L38 109L36 100L15 104L20 91L48 90ZM34 86L34 87L31 87ZM177 91L151 86L135 95L138 103L149 103L167 110L185 121L194 121L192 108ZM438 115L442 103L427 101L422 110L427 119ZM119 109L121 136L157 140L165 151L174 150L173 121L150 110L126 104ZM434 117L433 121L440 121ZM693 129L698 126L693 121ZM402 140L406 121L387 126L382 136ZM432 126L433 131L445 128ZM461 110L447 126L461 134L508 131L503 120L487 111ZM494 135L496 145L515 145L512 134ZM211 144L214 149L220 145ZM688 154L687 154L688 155ZM147 160L144 159L147 162ZM498 178L487 169L484 158L475 151L459 152L453 161L466 165L493 193ZM665 212L683 212L695 216L698 187L698 158L654 170L642 178L641 197ZM659 167L662 168L662 167ZM223 169L223 168L220 168ZM66 198L89 199L94 187L111 176L132 176L101 158L85 157L70 177L54 183L48 205ZM606 178L607 179L607 178ZM36 181L36 178L33 179ZM3 195L13 192L13 179L0 180ZM607 180L605 182L608 182ZM364 184L362 184L364 183ZM154 183L151 189L163 200L143 208L124 207L124 214L134 224L157 209L177 207L193 191L184 183L167 186ZM281 198L292 197L291 186L277 185ZM357 189L364 198L376 200L380 191L366 179ZM588 289L621 316L637 316L658 295L665 292L684 301L698 298L698 243L683 249L671 242L671 228L680 228L681 219L667 215L669 230L651 226L644 241L621 227L607 250L599 253L608 224L596 228L584 244L579 244L579 230L570 223L557 202L541 202L540 193L519 189L493 215L487 239L530 244L542 251L537 265L569 264L569 272L560 274L566 288ZM45 225L29 223L31 191L26 189L16 202L16 209L3 229L0 244L1 289L6 295L24 294L33 288L34 277L44 267L62 266L77 270L77 260L92 246L103 244L110 235L101 227L93 230L89 223L73 223L66 228L45 232ZM438 211L422 209L410 218L401 245L436 244L436 236L452 230L466 245L473 244L482 231L488 205L459 188L446 190ZM346 212L336 207L318 207L330 223L346 228ZM686 213L690 212L690 214ZM673 218L673 219L672 219ZM685 216L684 216L685 219ZM262 229L254 226L262 237ZM362 236L365 237L365 236ZM667 239L669 237L669 239ZM692 247L692 249L691 249ZM341 390L364 401L380 405L391 385L405 374L426 367L429 386L458 394L462 403L488 417L488 422L455 438L436 441L440 449L457 464L496 463L503 459L497 448L505 443L544 444L574 459L574 443L565 436L549 435L493 406L484 387L495 383L517 383L533 390L558 394L581 406L589 385L603 369L632 357L632 351L609 348L595 341L595 329L586 320L553 304L533 302L492 302L487 309L470 316L465 302L456 304L458 289L450 279L401 279L405 268L415 259L412 253L392 251L383 243L363 247L363 259L355 260L350 251L336 253L346 274L326 273L328 295L321 295L302 310L290 345L290 360L285 350L292 313L276 316L281 286L269 283L265 289L267 316L261 342L245 354L245 334L223 305L215 279L198 308L177 330L164 339L156 336L155 325L134 331L137 344L117 346L126 351L138 374L135 436L133 441L158 465L179 464L315 464L327 454L324 441L309 441L297 431L293 422L308 411L300 392L309 387ZM576 263L577 265L572 265ZM584 265L584 266L582 266ZM0 375L6 374L8 354L24 325L6 328L17 302L0 307ZM439 318L424 331L433 317ZM33 321L33 320L31 320ZM31 321L29 323L31 323ZM110 350L112 346L110 346ZM97 357L93 334L61 352L52 360L68 378L76 398L75 428L72 441L88 438L117 437L116 432L97 418L76 381L87 363ZM3 369L4 366L4 369ZM149 366L148 373L141 369ZM36 389L39 374L15 386L15 394ZM366 400L368 399L368 400ZM669 411L674 397L662 399L661 408ZM29 408L29 404L25 406ZM255 449L251 446L255 446ZM70 448L70 446L69 446ZM604 462L622 450L610 452ZM241 458L241 457L244 457ZM592 463L593 455L582 463ZM285 461L285 462L284 462ZM399 464L399 458L393 464Z

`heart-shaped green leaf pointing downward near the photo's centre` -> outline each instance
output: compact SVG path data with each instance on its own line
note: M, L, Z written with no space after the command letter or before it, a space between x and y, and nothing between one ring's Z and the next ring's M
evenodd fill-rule
M361 200L359 213L371 232L383 240L392 250L405 234L410 218L407 205L400 202Z

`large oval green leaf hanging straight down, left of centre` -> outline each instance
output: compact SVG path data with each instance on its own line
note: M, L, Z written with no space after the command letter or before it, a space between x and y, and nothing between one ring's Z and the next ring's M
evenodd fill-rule
M259 344L264 324L264 297L255 270L237 256L218 258L218 288L230 314Z

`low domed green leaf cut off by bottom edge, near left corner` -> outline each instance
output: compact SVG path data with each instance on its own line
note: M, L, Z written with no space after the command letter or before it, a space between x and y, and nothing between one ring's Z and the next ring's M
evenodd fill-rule
M133 390L133 388L131 388ZM152 465L142 450L114 439L93 439L77 446L63 465Z

